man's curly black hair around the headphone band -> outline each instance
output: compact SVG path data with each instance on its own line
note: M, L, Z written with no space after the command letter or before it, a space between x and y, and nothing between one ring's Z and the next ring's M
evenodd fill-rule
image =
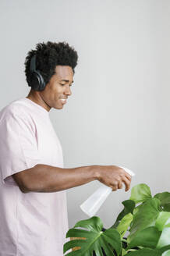
M30 59L36 55L36 69L41 72L45 84L48 84L51 76L55 74L55 67L57 65L71 66L74 69L77 64L78 55L73 47L70 47L66 42L51 42L36 44L36 50L28 52L25 64L25 74L27 83L30 82Z

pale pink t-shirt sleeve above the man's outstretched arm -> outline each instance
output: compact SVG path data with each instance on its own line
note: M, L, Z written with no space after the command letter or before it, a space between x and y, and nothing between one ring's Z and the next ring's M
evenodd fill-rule
M12 174L37 165L36 129L27 117L10 113L0 122L0 171L2 183L16 185Z

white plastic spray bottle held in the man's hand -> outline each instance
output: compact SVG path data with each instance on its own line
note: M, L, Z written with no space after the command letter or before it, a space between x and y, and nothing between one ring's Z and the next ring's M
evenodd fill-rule
M130 176L135 175L131 170L125 167L120 167L120 168L124 169L127 173L129 173ZM111 192L112 192L111 187L108 187L102 184L101 187L99 187L94 192L94 194L90 195L90 197L88 197L87 200L80 205L80 208L82 209L83 212L85 212L90 217L94 216L96 212L99 210L99 208L101 207L101 205L104 203L108 195L111 194Z

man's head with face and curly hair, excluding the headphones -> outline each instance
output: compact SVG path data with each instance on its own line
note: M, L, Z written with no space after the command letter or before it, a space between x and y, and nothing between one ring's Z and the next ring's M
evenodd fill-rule
M34 80L31 80L30 76L30 60L34 55L36 55L36 70L43 76L46 86L43 91L34 91L32 88L31 97L48 110L63 108L66 98L71 95L70 86L73 84L73 74L78 59L76 51L65 42L48 41L46 44L37 44L36 50L28 52L25 61L25 73L30 87L34 87Z

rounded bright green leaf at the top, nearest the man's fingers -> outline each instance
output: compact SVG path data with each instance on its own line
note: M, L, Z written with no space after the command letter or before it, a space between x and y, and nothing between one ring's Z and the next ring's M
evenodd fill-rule
M147 199L152 198L150 187L146 184L139 184L132 188L130 200L135 201L136 204L140 202L147 201Z

